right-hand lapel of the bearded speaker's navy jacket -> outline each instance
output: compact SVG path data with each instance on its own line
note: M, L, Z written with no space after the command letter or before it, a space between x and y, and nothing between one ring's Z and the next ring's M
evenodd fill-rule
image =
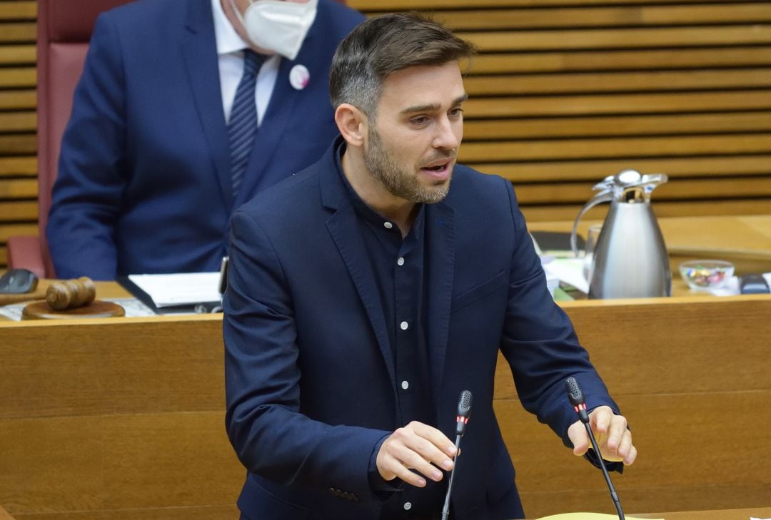
M426 206L426 272L429 276L427 341L435 400L441 395L455 272L455 211L446 203Z

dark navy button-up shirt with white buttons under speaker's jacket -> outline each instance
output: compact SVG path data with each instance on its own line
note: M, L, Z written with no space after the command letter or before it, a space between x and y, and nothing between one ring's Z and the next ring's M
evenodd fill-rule
M423 205L416 206L416 216L406 237L399 226L385 219L359 197L342 173L340 159L345 143L336 154L337 166L348 189L359 220L364 245L369 255L380 303L388 327L389 344L396 367L398 421L396 427L410 421L436 426L426 341L425 296L428 273L425 270L425 226ZM382 439L385 441L385 438ZM441 512L449 473L439 483L426 478L425 488L404 485L398 479L385 482L375 465L375 447L370 461L370 482L375 492L389 497L382 510L382 520L396 518L430 518Z

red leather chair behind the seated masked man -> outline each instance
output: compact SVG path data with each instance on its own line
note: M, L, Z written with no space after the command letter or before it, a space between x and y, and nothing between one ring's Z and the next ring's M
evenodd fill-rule
M38 237L8 238L8 267L38 277L56 273L45 243L51 188L59 163L59 142L72 109L72 92L83 69L89 39L100 12L129 0L38 0Z

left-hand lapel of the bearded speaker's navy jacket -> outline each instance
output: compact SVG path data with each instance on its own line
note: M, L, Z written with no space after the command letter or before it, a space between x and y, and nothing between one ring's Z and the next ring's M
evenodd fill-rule
M337 142L335 141L335 143ZM333 146L332 153L337 153L336 149L337 146ZM359 294L369 318L369 323L372 324L372 330L375 332L375 338L385 367L388 369L389 381L391 381L392 391L396 398L396 369L393 365L388 330L385 326L385 314L383 314L375 285L375 275L372 273L372 266L367 257L355 211L347 193L345 193L345 186L342 186L335 166L330 166L332 167L325 168L325 175L319 176L322 201L326 207L335 210L335 213L327 220L326 226L332 239L335 240L340 256L348 269L348 274L353 280L356 292Z

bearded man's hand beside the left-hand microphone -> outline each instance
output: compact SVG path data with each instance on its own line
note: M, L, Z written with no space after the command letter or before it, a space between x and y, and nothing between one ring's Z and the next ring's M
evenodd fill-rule
M407 484L423 488L426 479L420 475L437 482L442 480L439 468L446 471L453 469L451 457L455 454L455 445L441 431L412 421L385 439L378 451L376 464L385 481L399 477Z

